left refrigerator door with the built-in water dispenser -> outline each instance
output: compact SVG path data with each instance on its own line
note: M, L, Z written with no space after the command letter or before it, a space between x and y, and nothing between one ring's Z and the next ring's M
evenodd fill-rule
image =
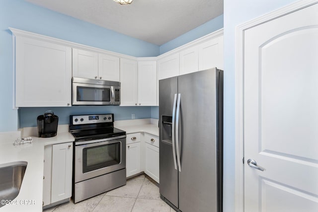
M178 171L172 151L172 113L177 77L159 80L159 191L178 207Z

